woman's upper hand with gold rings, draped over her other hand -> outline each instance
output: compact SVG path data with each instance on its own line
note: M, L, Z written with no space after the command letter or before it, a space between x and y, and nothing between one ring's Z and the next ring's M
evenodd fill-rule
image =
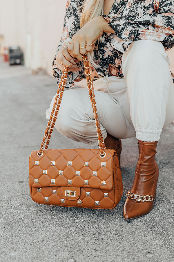
M71 44L68 45L68 52L71 57L76 57L79 61L83 61L81 54L93 51L95 42L104 32L115 33L108 26L108 22L104 17L98 16L88 21L77 33L74 34Z

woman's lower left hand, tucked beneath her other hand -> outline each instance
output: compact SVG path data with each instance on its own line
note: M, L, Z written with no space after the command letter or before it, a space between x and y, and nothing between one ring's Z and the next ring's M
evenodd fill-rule
M81 71L79 67L77 67L77 62L79 60L77 58L73 58L69 52L68 48L60 48L59 52L55 56L55 61L52 68L59 68L61 71L64 70L65 65L69 67L69 71Z

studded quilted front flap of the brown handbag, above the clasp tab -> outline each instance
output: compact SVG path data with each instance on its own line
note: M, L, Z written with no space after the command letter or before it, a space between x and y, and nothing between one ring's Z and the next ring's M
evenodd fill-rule
M114 150L44 149L42 156L32 151L30 156L30 187L68 186L113 188Z

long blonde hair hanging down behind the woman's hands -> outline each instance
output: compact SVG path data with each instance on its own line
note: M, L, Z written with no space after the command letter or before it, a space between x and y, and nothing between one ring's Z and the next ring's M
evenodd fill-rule
M103 6L104 6L104 0L85 0L83 9L81 11L81 17L80 17L80 28L84 26L89 20L93 19L94 17L100 16L103 14ZM95 49L98 49L98 44L95 47ZM97 65L94 61L94 51L88 52L88 57L90 63L95 67L99 68L100 66Z

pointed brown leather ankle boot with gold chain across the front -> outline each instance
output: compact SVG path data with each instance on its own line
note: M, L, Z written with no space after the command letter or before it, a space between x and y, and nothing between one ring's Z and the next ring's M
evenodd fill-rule
M125 219L141 217L153 208L159 168L155 161L158 141L144 142L138 140L139 159L135 169L133 187L127 192L123 208Z

